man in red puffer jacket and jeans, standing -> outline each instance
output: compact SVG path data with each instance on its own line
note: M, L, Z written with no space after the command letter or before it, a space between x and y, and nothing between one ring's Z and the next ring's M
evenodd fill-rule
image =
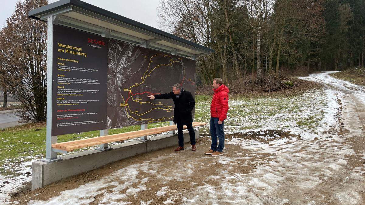
M213 79L213 98L210 105L210 135L212 136L212 145L209 151L204 152L211 156L218 156L223 154L224 148L224 120L227 118L228 112L228 93L227 86L223 85L220 78ZM217 147L217 138L219 144Z

